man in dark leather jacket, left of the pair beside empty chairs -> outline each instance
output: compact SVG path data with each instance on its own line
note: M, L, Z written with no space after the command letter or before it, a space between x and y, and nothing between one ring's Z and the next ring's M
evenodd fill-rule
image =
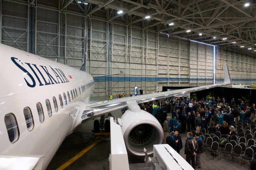
M184 154L186 155L186 161L189 164L191 162L192 168L196 169L195 156L198 150L198 144L192 135L193 135L192 132L187 133Z

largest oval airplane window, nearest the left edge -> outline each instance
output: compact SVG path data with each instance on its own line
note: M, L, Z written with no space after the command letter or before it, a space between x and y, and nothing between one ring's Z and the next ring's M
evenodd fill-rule
M4 123L8 132L10 142L16 142L20 136L20 131L15 115L12 113L5 115Z

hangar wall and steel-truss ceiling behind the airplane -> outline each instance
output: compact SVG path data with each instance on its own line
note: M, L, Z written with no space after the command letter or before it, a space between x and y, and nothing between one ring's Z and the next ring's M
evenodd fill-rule
M94 97L256 83L255 0L0 0L0 43L86 71ZM87 39L86 39L87 37Z

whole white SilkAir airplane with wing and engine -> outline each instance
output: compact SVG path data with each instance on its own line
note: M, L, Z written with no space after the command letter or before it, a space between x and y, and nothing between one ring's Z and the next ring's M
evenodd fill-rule
M81 70L4 44L0 51L0 160L39 157L39 169L46 169L78 125L124 107L128 110L118 123L128 152L142 156L146 147L152 154L153 145L163 142L163 130L138 104L232 83L225 64L220 84L90 103L95 83L84 71L86 51Z

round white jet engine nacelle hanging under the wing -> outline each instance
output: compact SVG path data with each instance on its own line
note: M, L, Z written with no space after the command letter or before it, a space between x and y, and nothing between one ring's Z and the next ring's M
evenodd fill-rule
M150 113L144 110L138 113L127 110L121 119L121 129L128 152L145 156L144 148L147 149L148 154L152 154L153 145L163 143L164 131L162 126Z

